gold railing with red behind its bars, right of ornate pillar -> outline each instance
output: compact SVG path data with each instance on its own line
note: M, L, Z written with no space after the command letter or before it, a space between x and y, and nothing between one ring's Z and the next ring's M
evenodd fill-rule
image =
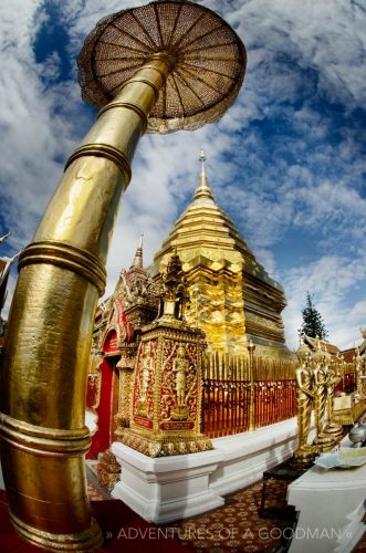
M216 438L295 416L295 367L289 361L206 354L202 431Z

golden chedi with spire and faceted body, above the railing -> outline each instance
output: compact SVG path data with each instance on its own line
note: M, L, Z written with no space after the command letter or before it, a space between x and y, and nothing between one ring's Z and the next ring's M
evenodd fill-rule
M187 323L207 336L208 352L248 355L249 341L259 356L285 358L281 312L286 302L216 202L208 184L203 152L194 201L178 218L154 258L159 279L177 252L188 284Z

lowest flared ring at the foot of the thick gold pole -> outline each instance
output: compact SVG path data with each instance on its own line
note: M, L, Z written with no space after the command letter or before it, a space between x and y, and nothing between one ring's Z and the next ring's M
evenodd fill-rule
M15 532L28 542L48 551L98 551L103 545L103 535L97 522L92 518L91 526L80 533L53 534L22 522L9 509L10 520Z

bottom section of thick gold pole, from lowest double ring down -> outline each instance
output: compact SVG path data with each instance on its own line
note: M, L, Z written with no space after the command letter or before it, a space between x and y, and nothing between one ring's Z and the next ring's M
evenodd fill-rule
M103 539L85 489L88 429L44 428L0 414L0 437L15 531L48 551L97 551Z

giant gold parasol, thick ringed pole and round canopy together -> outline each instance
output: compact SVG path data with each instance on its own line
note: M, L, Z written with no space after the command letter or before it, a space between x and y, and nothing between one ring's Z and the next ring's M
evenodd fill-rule
M218 121L241 87L245 51L211 10L159 1L103 19L79 65L83 97L100 113L20 255L1 371L9 513L19 534L48 551L102 543L85 487L86 374L137 143L146 129Z

